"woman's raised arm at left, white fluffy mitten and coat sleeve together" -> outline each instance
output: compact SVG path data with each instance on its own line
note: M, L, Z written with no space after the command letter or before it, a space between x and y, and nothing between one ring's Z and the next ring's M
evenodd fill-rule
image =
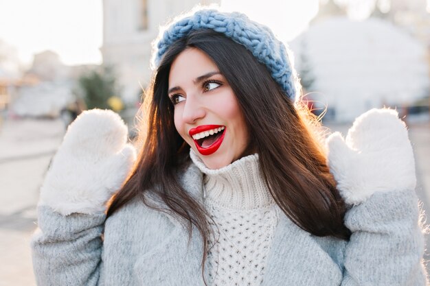
M106 202L136 158L127 134L109 110L84 111L67 128L38 202L31 243L38 285L98 285Z

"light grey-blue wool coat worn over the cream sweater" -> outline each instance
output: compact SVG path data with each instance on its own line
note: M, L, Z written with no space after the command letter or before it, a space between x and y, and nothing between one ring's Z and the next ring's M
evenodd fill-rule
M203 176L191 163L181 182L203 200ZM204 285L203 243L166 213L135 200L103 213L60 215L38 208L32 239L38 285ZM350 241L315 237L285 215L275 230L263 285L425 285L424 240L414 191L374 193L350 208Z

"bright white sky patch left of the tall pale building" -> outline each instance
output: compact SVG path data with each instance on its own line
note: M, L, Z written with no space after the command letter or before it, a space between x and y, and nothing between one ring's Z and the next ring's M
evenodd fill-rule
M56 51L65 64L100 63L102 0L0 0L0 40L23 64Z

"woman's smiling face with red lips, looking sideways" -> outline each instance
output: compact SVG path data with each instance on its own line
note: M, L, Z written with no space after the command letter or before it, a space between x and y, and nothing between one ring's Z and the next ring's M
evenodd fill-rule
M219 169L240 158L248 132L238 101L216 64L188 48L172 63L168 95L174 126L206 167Z

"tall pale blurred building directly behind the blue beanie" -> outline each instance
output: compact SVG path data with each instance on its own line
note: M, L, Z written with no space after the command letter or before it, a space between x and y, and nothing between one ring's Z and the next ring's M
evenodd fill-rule
M142 87L150 81L151 43L159 26L198 3L219 4L220 0L103 1L103 62L115 68L126 102L138 102Z

